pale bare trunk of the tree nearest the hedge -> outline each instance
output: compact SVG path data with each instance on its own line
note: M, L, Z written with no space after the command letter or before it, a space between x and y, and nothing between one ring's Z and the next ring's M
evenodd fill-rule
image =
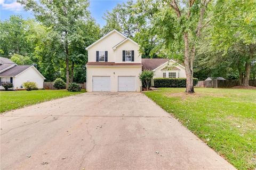
M189 54L189 41L188 41L188 33L184 33L183 35L185 42L185 70L186 70L186 91L187 93L194 93L194 85L193 85L193 59Z

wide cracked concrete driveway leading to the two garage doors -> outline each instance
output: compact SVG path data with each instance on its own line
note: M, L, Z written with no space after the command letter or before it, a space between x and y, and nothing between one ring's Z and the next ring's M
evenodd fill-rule
M1 169L235 169L142 93L84 93L1 117Z

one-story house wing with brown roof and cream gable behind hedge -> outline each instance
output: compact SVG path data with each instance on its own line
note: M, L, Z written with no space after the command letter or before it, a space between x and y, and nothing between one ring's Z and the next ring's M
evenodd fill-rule
M142 70L154 71L154 78L186 78L185 67L169 59L142 59ZM152 81L151 84L154 82Z

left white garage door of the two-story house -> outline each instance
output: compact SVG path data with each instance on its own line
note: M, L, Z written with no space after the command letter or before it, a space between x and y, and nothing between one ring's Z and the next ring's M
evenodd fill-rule
M92 76L93 92L110 92L110 76Z

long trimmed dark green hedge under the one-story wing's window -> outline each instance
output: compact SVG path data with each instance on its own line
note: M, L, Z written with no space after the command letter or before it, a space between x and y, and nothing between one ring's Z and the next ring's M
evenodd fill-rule
M193 78L194 86L198 79ZM154 78L155 87L186 87L186 78Z

